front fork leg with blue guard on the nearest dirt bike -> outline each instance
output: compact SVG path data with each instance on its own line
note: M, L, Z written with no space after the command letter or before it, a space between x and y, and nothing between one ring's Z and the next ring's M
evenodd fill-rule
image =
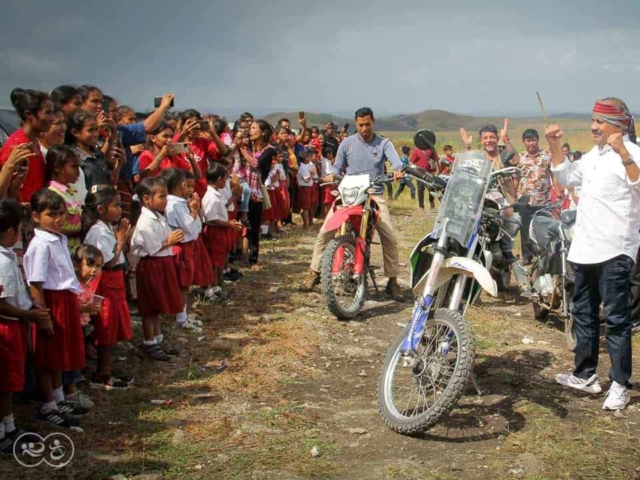
M429 310L431 309L431 304L433 303L434 295L436 293L438 275L440 274L440 268L445 261L443 252L446 251L447 241L448 237L446 235L445 228L443 229L441 237L438 239L438 244L435 249L436 253L433 255L433 260L431 261L427 281L422 292L422 301L416 302L416 306L411 316L411 323L407 329L407 335L400 347L400 353L405 359L405 365L410 365L412 363L418 351L418 346L420 345L422 336L424 335Z

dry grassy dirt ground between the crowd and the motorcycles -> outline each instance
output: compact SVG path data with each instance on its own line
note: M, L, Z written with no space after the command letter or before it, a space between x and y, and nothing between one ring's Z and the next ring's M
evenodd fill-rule
M394 221L406 259L430 219L396 207ZM330 318L319 294L297 292L312 240L296 230L266 244L264 271L246 272L229 304L200 307L204 333L172 332L183 348L174 364L121 350L137 387L95 395L85 433L72 434L71 466L26 471L11 459L0 478L640 478L637 394L614 416L600 410L601 396L557 386L553 375L572 361L562 332L512 297L483 296L468 315L482 396L470 385L422 437L391 432L376 383L410 306L371 300L357 321ZM219 373L223 361L230 367Z

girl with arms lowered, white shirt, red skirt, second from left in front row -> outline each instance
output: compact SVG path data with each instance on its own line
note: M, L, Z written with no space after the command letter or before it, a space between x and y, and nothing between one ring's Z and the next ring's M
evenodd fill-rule
M66 219L64 200L51 190L39 190L31 199L31 210L36 229L24 256L25 276L34 305L49 309L50 315L50 321L39 325L35 338L33 366L43 398L37 416L70 427L77 419L66 415L72 412L64 401L62 372L85 366L78 300L82 287L67 237L61 233Z

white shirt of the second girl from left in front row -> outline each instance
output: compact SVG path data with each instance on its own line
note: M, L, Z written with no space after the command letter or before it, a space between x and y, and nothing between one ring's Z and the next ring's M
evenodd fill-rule
M36 228L24 254L23 265L29 284L42 283L44 290L82 293L65 235Z

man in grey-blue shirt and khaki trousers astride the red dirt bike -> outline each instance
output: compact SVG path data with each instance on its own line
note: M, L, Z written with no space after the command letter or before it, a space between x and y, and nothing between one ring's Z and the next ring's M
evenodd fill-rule
M358 175L369 174L371 178L383 174L385 162L389 161L394 169L394 179L400 180L402 174L402 162L396 152L393 143L387 138L376 135L373 131L375 118L373 111L368 107L360 108L355 114L357 135L351 135L342 141L338 148L333 173L327 175L325 180L330 182L333 175ZM380 207L376 231L382 244L382 256L384 259L384 274L389 278L386 293L394 300L403 300L402 292L397 283L400 273L398 263L398 242L393 231L389 209L382 199L382 190L379 189L375 196ZM329 210L325 218L326 224L333 216L333 209ZM313 248L311 271L305 281L300 285L300 290L310 292L320 284L320 268L324 249L333 238L335 232L327 232L324 225L318 232Z

